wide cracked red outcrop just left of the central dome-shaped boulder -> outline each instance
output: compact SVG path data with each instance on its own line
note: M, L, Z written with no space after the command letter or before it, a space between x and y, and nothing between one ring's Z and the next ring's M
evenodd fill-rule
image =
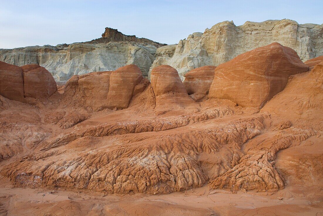
M62 87L62 103L70 103L88 110L123 109L133 96L140 94L150 84L142 77L136 65L126 65L115 71L91 72L74 75Z

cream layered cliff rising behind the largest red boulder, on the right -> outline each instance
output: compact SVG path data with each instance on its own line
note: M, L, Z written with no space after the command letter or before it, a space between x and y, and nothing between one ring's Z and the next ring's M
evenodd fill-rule
M294 49L302 61L323 55L323 25L298 24L296 21L267 20L245 22L235 26L225 21L193 33L177 45L158 48L152 68L167 64L175 69L182 80L189 70L206 65L218 66L232 58L255 49L278 42Z

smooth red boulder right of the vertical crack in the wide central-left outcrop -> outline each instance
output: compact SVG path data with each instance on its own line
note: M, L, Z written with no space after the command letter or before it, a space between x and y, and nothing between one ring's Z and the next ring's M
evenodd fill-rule
M127 108L136 85L140 83L142 73L136 65L126 65L110 75L107 108Z

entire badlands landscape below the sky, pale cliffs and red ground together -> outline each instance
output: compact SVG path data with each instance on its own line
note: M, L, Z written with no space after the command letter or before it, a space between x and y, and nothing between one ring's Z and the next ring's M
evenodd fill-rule
M0 215L323 215L322 29L2 49Z

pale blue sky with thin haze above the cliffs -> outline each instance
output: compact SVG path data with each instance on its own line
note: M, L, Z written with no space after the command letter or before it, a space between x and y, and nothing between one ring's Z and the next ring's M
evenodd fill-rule
M0 0L0 48L57 45L101 37L105 27L166 44L222 21L292 19L323 23L323 1Z

